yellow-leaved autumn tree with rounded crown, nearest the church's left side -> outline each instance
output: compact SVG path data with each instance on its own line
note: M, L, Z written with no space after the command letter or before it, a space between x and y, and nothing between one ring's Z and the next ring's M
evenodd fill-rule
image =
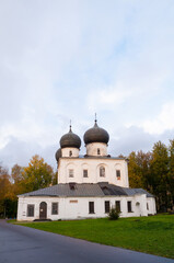
M23 169L26 192L44 188L51 184L54 171L39 156L32 157L28 167Z

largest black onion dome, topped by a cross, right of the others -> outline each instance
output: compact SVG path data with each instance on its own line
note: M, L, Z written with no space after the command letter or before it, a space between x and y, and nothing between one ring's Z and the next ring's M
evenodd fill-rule
M108 133L97 126L96 119L93 128L90 128L85 132L83 136L85 145L91 142L104 142L107 144L109 140Z

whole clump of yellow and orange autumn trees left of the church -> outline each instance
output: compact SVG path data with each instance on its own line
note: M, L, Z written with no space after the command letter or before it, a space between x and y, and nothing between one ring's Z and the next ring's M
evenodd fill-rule
M43 188L54 183L56 183L56 173L38 156L31 159L28 167L14 164L11 176L8 170L0 165L0 216L16 216L19 194Z

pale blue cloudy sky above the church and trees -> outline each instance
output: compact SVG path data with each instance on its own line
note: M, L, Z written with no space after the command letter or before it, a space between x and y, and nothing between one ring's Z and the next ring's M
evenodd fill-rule
M95 112L113 156L174 138L174 1L1 0L1 163L56 168Z

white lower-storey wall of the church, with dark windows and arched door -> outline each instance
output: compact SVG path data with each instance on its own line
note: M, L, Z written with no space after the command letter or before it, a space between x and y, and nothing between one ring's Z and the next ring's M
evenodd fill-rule
M18 220L32 221L39 219L39 204L47 203L47 218L82 219L106 217L105 201L109 201L111 207L116 201L120 201L120 217L139 217L155 214L154 198L147 198L146 194L135 196L104 196L104 197L19 197ZM131 202L132 211L128 213L127 202ZM58 202L58 215L51 215L51 203ZM94 202L94 214L89 214L89 202ZM147 209L149 203L149 210ZM27 204L35 205L34 217L27 217Z

